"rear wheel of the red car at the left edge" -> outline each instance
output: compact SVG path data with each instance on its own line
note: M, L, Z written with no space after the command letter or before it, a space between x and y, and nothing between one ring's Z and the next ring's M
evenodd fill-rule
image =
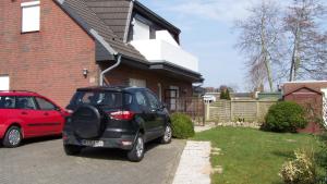
M22 138L23 136L21 133L21 128L19 126L11 126L10 128L8 128L2 144L4 147L15 148L21 145Z

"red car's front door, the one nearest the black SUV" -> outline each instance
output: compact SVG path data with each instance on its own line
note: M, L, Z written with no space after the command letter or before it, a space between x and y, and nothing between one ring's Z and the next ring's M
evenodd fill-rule
M64 118L60 109L49 100L35 97L38 111L43 115L43 130L45 134L61 134Z

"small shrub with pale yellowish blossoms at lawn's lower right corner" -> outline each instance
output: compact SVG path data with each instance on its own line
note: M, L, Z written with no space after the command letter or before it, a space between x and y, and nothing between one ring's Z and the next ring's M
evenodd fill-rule
M316 167L313 151L296 150L295 159L282 165L280 176L287 184L314 184Z

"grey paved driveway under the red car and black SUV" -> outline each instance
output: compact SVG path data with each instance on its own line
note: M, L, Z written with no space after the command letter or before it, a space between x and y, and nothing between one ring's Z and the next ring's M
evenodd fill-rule
M85 149L63 152L61 139L32 139L14 149L0 148L1 184L170 184L185 146L150 143L142 162L130 162L122 150Z

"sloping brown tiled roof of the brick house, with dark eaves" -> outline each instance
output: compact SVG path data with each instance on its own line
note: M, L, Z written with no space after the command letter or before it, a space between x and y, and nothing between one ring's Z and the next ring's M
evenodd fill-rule
M129 4L130 0L53 1L56 1L62 8L62 10L64 10L88 35L95 39L97 61L112 60L113 56L120 53L125 59L123 61L132 61L134 65L141 64L146 66L148 70L166 71L168 73L175 73L177 76L184 76L185 78L194 82L203 82L199 73L186 70L179 65L161 63L162 68L157 68L158 63L152 63L147 61L145 57L142 56L132 45L123 41L121 38L123 34L123 20L128 19L129 16L125 14L128 11L126 9L131 8L131 4ZM141 3L137 4L140 5ZM105 23L106 17L107 23ZM159 16L157 19L159 19ZM118 36L117 33L111 29L114 23L118 25L116 30L120 36ZM129 63L131 64L131 62Z

